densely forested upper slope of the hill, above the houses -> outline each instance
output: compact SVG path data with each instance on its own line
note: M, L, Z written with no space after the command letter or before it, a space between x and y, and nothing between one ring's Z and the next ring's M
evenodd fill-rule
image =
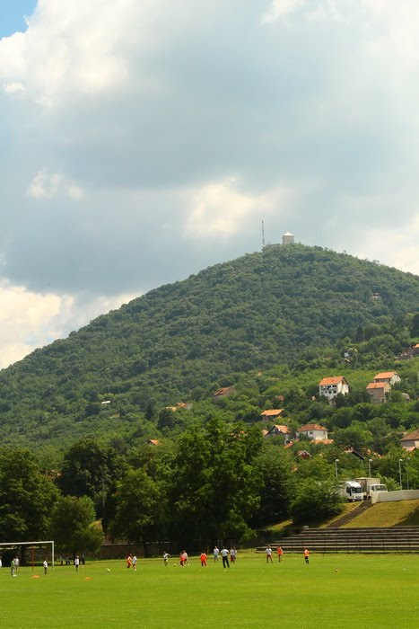
M152 290L4 369L2 439L33 447L123 430L238 372L295 366L344 338L397 336L418 306L417 276L276 245Z

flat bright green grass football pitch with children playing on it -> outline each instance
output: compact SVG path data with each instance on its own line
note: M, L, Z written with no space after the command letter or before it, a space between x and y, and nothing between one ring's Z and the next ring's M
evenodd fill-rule
M276 559L276 558L275 558ZM2 626L43 627L417 627L419 555L285 555L266 565L246 554L235 566L201 569L196 558L123 561L0 571ZM108 571L109 570L109 571ZM34 578L38 576L39 578Z

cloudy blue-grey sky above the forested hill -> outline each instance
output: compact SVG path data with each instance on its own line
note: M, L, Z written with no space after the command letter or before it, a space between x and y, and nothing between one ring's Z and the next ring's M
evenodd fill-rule
M0 368L280 242L419 274L416 0L0 0Z

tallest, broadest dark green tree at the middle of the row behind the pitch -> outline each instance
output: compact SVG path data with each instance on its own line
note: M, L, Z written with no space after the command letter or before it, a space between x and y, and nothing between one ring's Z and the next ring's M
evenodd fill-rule
M179 439L170 487L173 532L179 539L241 539L258 509L254 459L259 430L213 419Z

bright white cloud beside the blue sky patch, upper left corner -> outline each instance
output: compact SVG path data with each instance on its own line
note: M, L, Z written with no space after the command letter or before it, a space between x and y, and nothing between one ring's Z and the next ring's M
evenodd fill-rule
M28 30L0 41L0 75L24 85L43 106L123 84L132 4L39 0Z

